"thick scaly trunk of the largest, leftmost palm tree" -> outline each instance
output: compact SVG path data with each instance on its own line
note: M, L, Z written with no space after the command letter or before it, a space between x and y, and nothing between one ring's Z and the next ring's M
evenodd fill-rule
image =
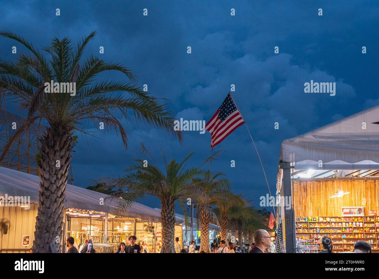
M50 244L55 244L57 252L61 252L64 200L74 144L70 132L59 125L48 127L40 141L39 202L32 250L49 253ZM57 160L60 167L56 166Z

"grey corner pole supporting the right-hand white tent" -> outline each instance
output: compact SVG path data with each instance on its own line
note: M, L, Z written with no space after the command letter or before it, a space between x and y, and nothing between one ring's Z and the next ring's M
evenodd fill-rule
M285 220L285 247L286 253L295 252L295 216L292 206L292 185L291 185L291 164L289 162L282 162L280 168L283 169L283 196L288 197L288 201L291 201L289 209L284 208L284 220ZM290 199L291 198L291 199Z

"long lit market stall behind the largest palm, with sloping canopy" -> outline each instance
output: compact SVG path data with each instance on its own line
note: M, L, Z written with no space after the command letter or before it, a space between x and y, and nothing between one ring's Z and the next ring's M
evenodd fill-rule
M0 207L0 216L9 220L7 234L0 236L0 252L29 252L38 213L39 177L0 167L0 185L0 196L25 196L29 201L28 208ZM146 240L153 247L151 230L146 230L144 224L159 222L160 213L137 202L121 211L116 201L106 197L106 194L67 184L61 243L72 236L80 248L85 240L91 239L98 252L113 252L120 241L127 243L130 235L139 235L137 241Z

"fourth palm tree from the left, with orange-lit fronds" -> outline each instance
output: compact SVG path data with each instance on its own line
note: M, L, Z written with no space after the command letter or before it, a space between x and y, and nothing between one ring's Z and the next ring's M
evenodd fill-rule
M216 205L215 212L219 213L219 218L221 219L221 240L227 240L227 231L228 231L228 221L229 221L229 210L235 205L243 206L246 204L241 194L235 195L229 193L225 196L220 196L211 205Z

